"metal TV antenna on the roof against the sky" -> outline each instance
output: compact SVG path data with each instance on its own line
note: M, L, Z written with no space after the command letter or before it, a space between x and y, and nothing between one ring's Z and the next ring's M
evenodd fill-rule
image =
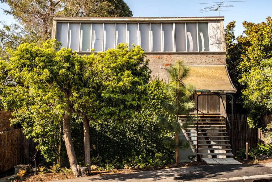
M226 2L246 2L246 1L222 1L222 2L207 2L207 3L199 3L199 4L214 4L212 6L208 6L205 8L200 9L200 13L205 13L208 11L218 11L219 16L220 16L220 11L230 11L230 10L225 10L223 8L232 8L234 7L233 5L229 5Z

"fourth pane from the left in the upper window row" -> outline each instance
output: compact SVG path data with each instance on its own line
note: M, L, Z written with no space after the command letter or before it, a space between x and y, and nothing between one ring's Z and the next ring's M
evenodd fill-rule
M96 52L103 51L102 49L103 40L103 24L92 24L92 38L91 48L94 48Z

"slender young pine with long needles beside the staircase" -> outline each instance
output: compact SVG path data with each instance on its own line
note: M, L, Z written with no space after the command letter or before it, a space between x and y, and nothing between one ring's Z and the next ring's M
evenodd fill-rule
M194 101L192 101L191 99L191 96L194 92L194 87L192 85L184 85L182 83L182 79L184 79L189 73L189 68L186 67L181 60L178 59L176 63L170 65L169 68L166 69L166 71L168 72L168 75L172 80L171 83L169 83L166 87L167 93L171 98L170 102L166 103L166 106L168 108L168 112L171 115L168 117L168 121L163 125L168 127L169 130L175 132L175 141L168 143L172 143L172 147L176 150L177 165L179 158L179 149L185 149L190 146L189 141L181 141L178 137L178 134L182 131L182 129L186 129L188 125L192 124L192 121L195 119L193 115L189 114L189 112L195 106ZM183 125L181 125L179 122L180 115L187 118L187 122Z

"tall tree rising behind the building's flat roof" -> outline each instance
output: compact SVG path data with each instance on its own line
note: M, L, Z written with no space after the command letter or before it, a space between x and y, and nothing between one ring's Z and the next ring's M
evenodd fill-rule
M78 17L131 17L132 12L123 0L1 0L10 6L6 14L23 26L26 32L34 32L37 39L51 37L53 16Z

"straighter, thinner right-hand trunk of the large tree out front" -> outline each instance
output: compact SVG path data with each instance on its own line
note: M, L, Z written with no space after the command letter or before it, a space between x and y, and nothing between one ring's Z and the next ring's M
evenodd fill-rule
M83 133L84 133L84 151L85 151L85 165L87 164L88 173L91 174L91 154L90 154L90 133L89 133L89 119L86 115L83 116Z

